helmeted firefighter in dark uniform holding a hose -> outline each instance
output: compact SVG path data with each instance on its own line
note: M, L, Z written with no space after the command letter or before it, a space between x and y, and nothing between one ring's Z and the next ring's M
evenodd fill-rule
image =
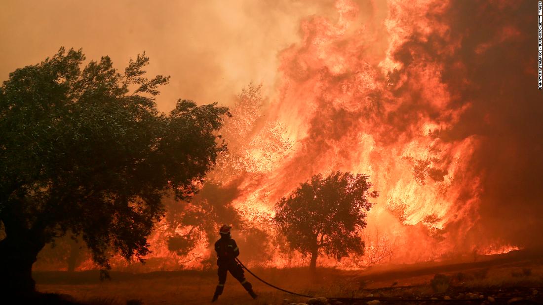
M220 227L219 234L220 239L215 243L215 251L217 251L217 265L219 266L219 284L215 289L215 294L211 302L217 301L219 295L223 293L224 283L226 282L226 272L230 271L230 274L236 278L245 290L251 295L252 298L256 298L257 295L252 291L252 285L243 275L243 268L236 262L236 257L239 255L239 249L234 241L230 237L229 225L223 225Z

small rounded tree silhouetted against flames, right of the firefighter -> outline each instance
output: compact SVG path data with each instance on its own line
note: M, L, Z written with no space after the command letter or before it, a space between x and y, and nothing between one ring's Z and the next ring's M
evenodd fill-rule
M340 171L324 179L317 174L275 205L277 230L285 235L291 250L311 255L311 270L321 254L338 260L349 252L363 254L360 233L372 205L368 197L378 196L376 191L369 192L368 178Z

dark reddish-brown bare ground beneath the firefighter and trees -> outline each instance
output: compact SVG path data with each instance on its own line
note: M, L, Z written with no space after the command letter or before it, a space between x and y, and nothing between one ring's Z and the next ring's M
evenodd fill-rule
M343 304L543 304L543 256L540 252L478 258L456 263L389 266L365 271L320 269L255 269L264 280L298 293L329 297ZM87 304L206 304L217 284L214 271L159 271L146 274L111 272L100 282L98 271L35 272L37 289ZM228 277L217 304L303 303L258 282L247 274L259 294L252 300ZM370 302L370 303L368 303ZM372 303L371 303L372 302Z

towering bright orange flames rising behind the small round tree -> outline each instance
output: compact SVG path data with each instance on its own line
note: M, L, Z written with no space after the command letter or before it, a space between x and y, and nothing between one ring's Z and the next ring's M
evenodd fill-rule
M451 105L435 54L405 49L415 35L446 39L447 25L435 18L446 8L443 1L390 2L388 37L372 33L351 1L336 3L336 21L302 22L301 43L280 55L275 98L264 109L260 88L250 87L225 127L231 152L214 177L228 183L243 175L233 205L254 225L266 225L254 216L273 214L275 202L313 174L366 173L380 192L368 214L368 255L378 241L394 247L386 257L395 262L471 251L475 245L460 239L475 221L470 212L481 191L478 177L468 174L478 141L440 137L470 104ZM388 48L379 54L372 46L383 41Z

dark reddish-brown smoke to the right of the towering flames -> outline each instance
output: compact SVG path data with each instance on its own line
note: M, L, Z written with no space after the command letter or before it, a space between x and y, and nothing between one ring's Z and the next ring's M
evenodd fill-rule
M536 77L536 2L458 2L447 12L462 41L443 79L458 107L471 103L453 140L477 137L470 178L481 175L480 221L468 238L541 246L543 103ZM480 22L484 20L484 22Z

